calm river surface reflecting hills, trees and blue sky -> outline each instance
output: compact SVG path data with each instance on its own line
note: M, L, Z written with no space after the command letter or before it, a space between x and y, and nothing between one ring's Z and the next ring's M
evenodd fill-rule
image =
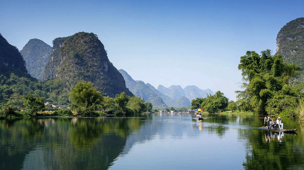
M297 134L259 129L257 115L0 120L0 169L304 169Z

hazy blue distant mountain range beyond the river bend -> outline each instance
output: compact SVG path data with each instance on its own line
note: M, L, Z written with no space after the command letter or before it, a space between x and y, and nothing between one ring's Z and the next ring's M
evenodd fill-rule
M214 94L210 89L202 90L196 86L187 86L184 89L180 85L172 85L168 88L159 85L157 89L151 84L145 84L133 78L125 71L118 70L126 81L126 87L138 97L153 104L153 108L165 109L169 107L188 107L191 100L197 97L207 97L207 94Z

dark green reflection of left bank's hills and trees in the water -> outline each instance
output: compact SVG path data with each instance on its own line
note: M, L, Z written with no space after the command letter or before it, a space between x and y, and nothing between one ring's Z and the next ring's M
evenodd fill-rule
M0 120L0 169L22 169L43 146L49 169L107 169L123 151L140 118L31 118ZM35 158L33 158L35 160Z

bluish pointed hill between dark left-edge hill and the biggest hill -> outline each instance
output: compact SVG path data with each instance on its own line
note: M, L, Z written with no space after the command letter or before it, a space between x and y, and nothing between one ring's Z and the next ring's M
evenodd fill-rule
M26 69L32 77L42 80L44 66L47 64L52 47L40 39L30 39L20 50L26 61Z

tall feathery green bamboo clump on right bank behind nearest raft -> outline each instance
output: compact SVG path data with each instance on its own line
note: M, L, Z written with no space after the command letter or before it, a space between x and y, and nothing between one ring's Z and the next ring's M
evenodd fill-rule
M240 58L243 91L236 91L236 105L241 111L254 111L258 114L278 114L294 107L296 97L302 95L303 86L291 87L293 78L300 67L283 62L281 55L271 55L265 50L258 55L247 51Z

